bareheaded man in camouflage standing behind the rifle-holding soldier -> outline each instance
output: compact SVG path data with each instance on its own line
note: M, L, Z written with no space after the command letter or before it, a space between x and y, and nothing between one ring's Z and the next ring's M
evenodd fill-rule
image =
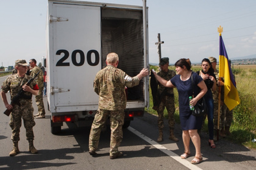
M29 60L30 67L32 70L30 71L30 76L34 76L38 72L40 72L37 76L36 82L39 87L39 94L35 96L35 102L37 103L38 112L35 114L35 118L45 118L45 107L43 101L43 90L44 90L44 73L41 68L37 66L37 61L35 59Z

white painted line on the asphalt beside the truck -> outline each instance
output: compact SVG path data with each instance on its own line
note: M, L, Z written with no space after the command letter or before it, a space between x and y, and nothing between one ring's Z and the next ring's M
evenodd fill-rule
M127 129L129 131L131 131L132 133L134 133L135 135L137 135L138 137L142 138L144 141L153 145L155 148L161 150L163 153L169 155L171 158L175 159L177 162L180 162L182 165L186 166L187 168L189 168L191 170L202 170L199 167L197 167L196 165L193 165L192 163L187 161L186 159L181 159L179 155L175 154L174 152L170 151L166 147L164 147L164 146L160 145L159 143L155 142L153 139L148 138L146 135L144 135L144 134L140 133L139 131L133 129L132 127L129 126Z

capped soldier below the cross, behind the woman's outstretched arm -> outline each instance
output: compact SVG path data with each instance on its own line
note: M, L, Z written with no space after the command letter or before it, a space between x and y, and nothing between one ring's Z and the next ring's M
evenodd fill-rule
M159 66L161 68L161 71L157 73L161 78L165 80L172 79L176 73L173 70L169 70L169 58L164 57L160 60ZM173 141L179 141L178 138L174 136L174 112L175 112L175 106L174 106L174 92L173 88L167 88L163 86L162 84L158 83L158 95L160 98L160 104L157 108L158 113L158 130L159 130L159 136L157 138L158 142L163 141L163 111L165 110L165 107L168 111L168 123L170 128L170 137L169 139L172 139Z

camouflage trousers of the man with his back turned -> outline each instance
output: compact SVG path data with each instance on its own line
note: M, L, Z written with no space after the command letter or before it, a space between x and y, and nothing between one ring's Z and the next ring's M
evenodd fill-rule
M89 137L89 150L97 150L99 144L99 136L101 129L105 126L106 121L110 117L110 156L118 153L118 146L120 146L123 139L124 124L124 110L101 110L98 109L95 114L93 124L91 125L90 137Z

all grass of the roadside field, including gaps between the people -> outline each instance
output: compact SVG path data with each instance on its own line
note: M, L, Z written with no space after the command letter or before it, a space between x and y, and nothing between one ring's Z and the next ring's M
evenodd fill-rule
M158 66L150 66L150 69L154 68L155 71L159 70ZM170 66L169 69L175 70L174 66ZM202 68L200 66L192 66L193 71L199 71ZM250 148L256 148L256 142L251 142L256 138L256 67L255 68L240 68L232 67L232 72L236 78L236 86L240 98L240 104L233 110L233 122L230 127L231 135L226 139L240 143ZM178 92L174 88L175 96L175 122L180 123L178 113ZM157 111L152 109L153 99L150 88L150 107L146 110L157 115ZM164 116L167 119L167 110L164 111ZM204 124L204 129L207 130L207 119Z

